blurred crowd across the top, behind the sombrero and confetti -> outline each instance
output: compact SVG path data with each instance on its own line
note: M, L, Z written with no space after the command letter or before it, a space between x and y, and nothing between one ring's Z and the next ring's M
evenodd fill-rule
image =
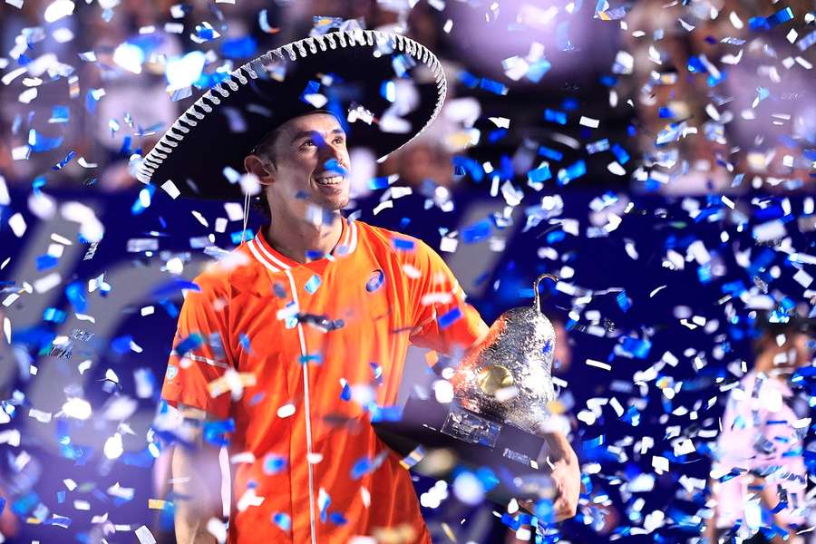
M519 0L495 9L450 0L124 0L78 2L73 15L50 22L59 3L0 8L0 175L13 184L135 186L133 161L202 92L169 91L169 62L198 50L206 54L205 75L228 72L337 18L429 46L449 81L441 118L412 145L384 164L355 150L358 196L374 176L398 174L401 185L430 192L478 181L455 165L457 155L485 175L510 158L522 182L547 162L555 183L558 168L583 160L586 175L559 181L572 187L694 194L811 187L813 157L803 150L812 147L816 125L808 101L812 54L794 45L813 28L812 19L803 23L812 7L804 1L786 3L795 15L793 40L749 27L752 17L782 5L740 0L637 2L617 15L593 13L594 3ZM193 38L206 24L220 35L198 44ZM144 58L134 59L138 51L128 45ZM520 59L550 66L538 78L520 76L509 68ZM27 71L13 77L21 65ZM473 89L467 73L508 92ZM569 121L545 119L545 111ZM578 125L583 116L597 128ZM26 152L31 129L60 145ZM597 154L610 144L624 151L614 164Z

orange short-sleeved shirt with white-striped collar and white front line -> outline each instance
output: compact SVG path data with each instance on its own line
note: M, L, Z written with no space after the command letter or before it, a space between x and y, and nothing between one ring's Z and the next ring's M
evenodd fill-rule
M395 403L409 343L452 353L487 332L442 258L344 219L332 255L299 264L258 234L195 281L161 393L233 418L230 453L252 454L231 466L228 542L431 542L370 418Z

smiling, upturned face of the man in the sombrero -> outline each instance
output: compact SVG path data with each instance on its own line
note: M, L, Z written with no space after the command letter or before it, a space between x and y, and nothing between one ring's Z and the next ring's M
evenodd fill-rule
M310 113L287 121L280 126L274 153L270 199L286 202L298 214L306 202L329 211L348 205L348 151L334 115Z

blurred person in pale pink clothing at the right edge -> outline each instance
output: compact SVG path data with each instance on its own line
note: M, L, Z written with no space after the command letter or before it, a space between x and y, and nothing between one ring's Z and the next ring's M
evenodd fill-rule
M812 323L798 315L784 318L772 322L767 312L756 318L753 369L725 407L710 481L714 515L704 535L711 544L737 536L752 544L798 542L796 532L806 525L801 452L809 410L807 395L794 393L790 382L811 364ZM782 531L772 538L761 529L771 523Z

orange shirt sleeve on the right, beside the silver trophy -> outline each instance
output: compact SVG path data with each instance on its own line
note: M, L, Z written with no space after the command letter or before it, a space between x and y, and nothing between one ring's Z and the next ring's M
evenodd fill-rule
M467 349L487 334L488 325L465 302L466 295L451 269L422 240L416 241L413 270L413 345L445 354Z

